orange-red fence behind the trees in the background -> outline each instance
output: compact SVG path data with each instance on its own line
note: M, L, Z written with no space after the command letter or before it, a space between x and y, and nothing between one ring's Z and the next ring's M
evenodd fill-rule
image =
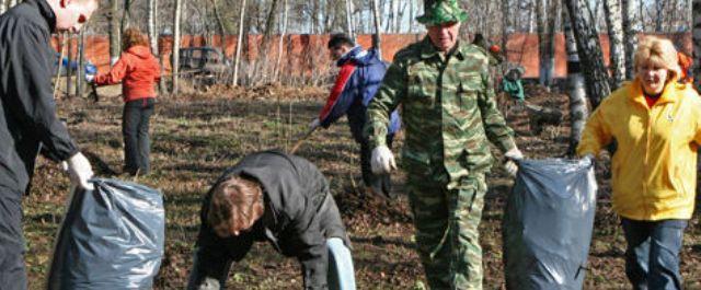
M663 35L668 37L677 44L677 47L682 51L691 51L691 34L669 34ZM387 34L382 35L382 57L391 61L394 54L402 47L422 39L423 35L417 34ZM286 35L283 39L283 59L280 61L280 71L283 76L288 74L303 74L312 73L318 70L327 70L332 63L329 59L329 53L326 50L326 40L329 35L308 35L308 34L294 34ZM608 63L608 36L601 35L601 48L604 50L605 61ZM73 38L73 44L76 39ZM58 50L59 38L55 37L54 47ZM235 35L228 35L225 37L225 54L227 57L232 57L235 53ZM369 47L371 43L370 35L360 35L358 37L358 44L364 47ZM181 40L181 47L203 46L209 45L215 47L221 47L221 37L214 36L207 39L203 36L184 36ZM242 55L242 59L246 62L251 62L258 59L258 49L261 44L261 35L250 35L246 45L246 54ZM276 63L279 49L279 37L273 36L268 53L266 55L267 60L271 63ZM77 45L73 45L71 55L76 55ZM567 56L565 51L564 37L562 34L555 36L555 77L563 78L566 76L566 62ZM170 54L172 48L172 37L161 36L159 38L159 50L161 59L165 65L166 71L170 71ZM110 39L107 36L87 36L85 37L85 58L92 63L97 66L101 72L110 69ZM507 47L504 49L507 53L508 60L510 62L519 62L526 68L525 78L538 78L538 36L535 34L512 34L507 40Z

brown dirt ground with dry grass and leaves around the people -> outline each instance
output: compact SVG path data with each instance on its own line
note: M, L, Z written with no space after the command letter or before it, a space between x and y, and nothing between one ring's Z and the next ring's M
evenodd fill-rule
M101 103L60 100L59 115L93 162L101 177L123 164L122 103L113 91L102 91ZM112 96L110 96L112 94ZM527 86L529 102L567 112L566 96ZM183 289L192 265L203 194L227 167L256 150L288 150L304 134L323 104L321 89L260 88L214 90L161 97L152 118L153 172L139 183L162 190L165 199L166 248L156 289ZM528 113L504 102L519 148L528 158L560 158L567 150L568 121L535 128ZM538 134L536 135L535 131ZM397 148L401 146L399 137ZM359 176L358 147L345 119L315 132L298 151L322 170L332 184L353 246L359 289L422 289L425 281L415 253L412 216L403 190L403 174L394 177L398 198L365 195ZM398 150L394 150L399 152ZM399 154L397 154L399 158ZM501 155L497 153L497 155ZM399 160L401 163L401 158ZM34 184L24 199L26 265L31 289L44 289L53 239L68 195L68 178L57 164L41 159ZM608 161L598 162L600 192L585 289L627 289L623 270L625 241L611 211ZM504 288L501 219L513 181L495 166L481 224L485 289ZM697 208L698 209L698 208ZM681 269L687 289L701 289L701 225L699 211L685 234ZM299 289L298 263L258 243L230 272L229 289Z

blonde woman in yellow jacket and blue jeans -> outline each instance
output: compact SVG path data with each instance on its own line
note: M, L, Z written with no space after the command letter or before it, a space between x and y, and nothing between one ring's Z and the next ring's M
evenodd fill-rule
M593 159L612 140L612 205L628 248L634 289L681 289L679 252L693 212L701 100L679 83L671 42L646 36L635 53L636 77L591 114L577 154Z

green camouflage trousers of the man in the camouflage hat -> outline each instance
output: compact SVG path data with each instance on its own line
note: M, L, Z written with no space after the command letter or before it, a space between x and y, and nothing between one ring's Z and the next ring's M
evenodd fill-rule
M423 183L422 183L423 182ZM416 245L430 289L482 289L484 174L463 177L455 189L409 177Z

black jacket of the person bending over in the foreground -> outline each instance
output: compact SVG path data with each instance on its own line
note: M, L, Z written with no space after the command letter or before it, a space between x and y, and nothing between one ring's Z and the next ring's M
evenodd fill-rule
M207 223L207 210L214 188L233 175L252 177L262 184L265 212L250 231L221 239ZM254 241L267 240L278 252L300 260L307 289L324 289L326 239L341 237L349 245L326 178L309 161L278 151L253 153L228 170L207 194L200 219L196 260L226 265L210 268L212 272L195 265L203 271L202 276L226 277L228 265L221 259L240 260Z

